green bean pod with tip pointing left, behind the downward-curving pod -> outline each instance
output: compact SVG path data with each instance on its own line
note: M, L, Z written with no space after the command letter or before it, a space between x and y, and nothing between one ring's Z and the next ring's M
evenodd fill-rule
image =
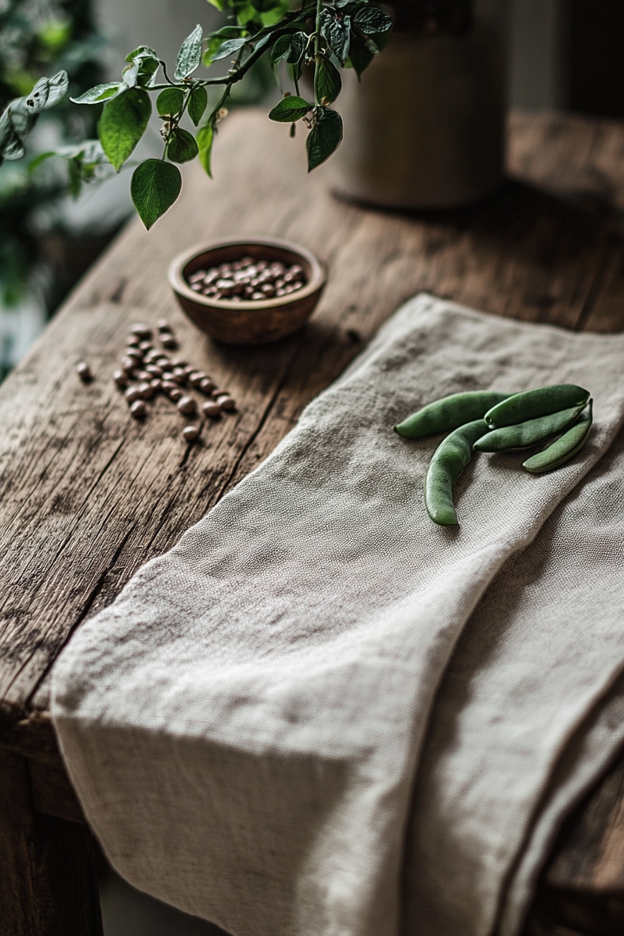
M509 399L512 393L497 390L467 390L453 393L442 400L428 403L412 416L395 426L404 439L425 439L428 435L441 435L458 429L474 419L483 419L497 403Z

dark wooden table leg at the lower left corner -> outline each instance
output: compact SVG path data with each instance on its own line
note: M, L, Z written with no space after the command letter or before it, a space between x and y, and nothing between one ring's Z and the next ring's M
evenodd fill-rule
M0 747L0 936L103 936L88 826L36 812L28 768Z

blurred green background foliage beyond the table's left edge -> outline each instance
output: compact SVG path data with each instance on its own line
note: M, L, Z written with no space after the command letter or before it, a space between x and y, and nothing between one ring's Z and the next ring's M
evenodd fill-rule
M0 305L21 299L29 271L39 259L31 223L35 213L47 211L65 197L67 184L76 195L80 180L94 176L89 165L93 146L86 157L80 157L76 144L94 136L97 113L86 108L80 111L66 96L53 109L50 97L47 107L39 106L41 96L33 108L25 101L42 73L66 73L79 93L91 87L100 80L96 60L103 45L94 30L90 0L0 0L0 124L4 139L0 164L3 150L20 154L37 121L49 127L53 124L54 139L66 144L63 155L67 160L65 174L33 173L25 160L7 159L0 165ZM56 91L64 83L56 85Z

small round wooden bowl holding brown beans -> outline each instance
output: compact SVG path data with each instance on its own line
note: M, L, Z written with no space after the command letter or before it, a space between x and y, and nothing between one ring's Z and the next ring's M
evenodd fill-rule
M305 271L306 285L274 299L229 302L197 294L186 282L186 277L196 270L243 256L298 263ZM184 312L200 329L225 344L267 344L297 331L320 299L325 281L326 272L310 251L274 238L215 241L184 251L169 267L169 283Z

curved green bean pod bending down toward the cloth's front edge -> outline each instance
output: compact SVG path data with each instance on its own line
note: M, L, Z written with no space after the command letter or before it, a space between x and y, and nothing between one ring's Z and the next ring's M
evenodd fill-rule
M486 431L485 419L475 419L447 435L433 453L425 475L425 506L434 523L457 524L453 485L471 461L472 446Z

